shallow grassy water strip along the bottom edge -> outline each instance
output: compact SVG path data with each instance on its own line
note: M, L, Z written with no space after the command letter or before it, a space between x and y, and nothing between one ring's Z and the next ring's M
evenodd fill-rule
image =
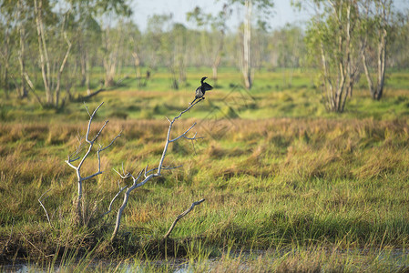
M203 272L203 271L327 271L406 272L409 249L281 249L223 253L220 257L169 258L162 260L127 259L110 261L83 259L43 263L15 262L3 265L1 272Z

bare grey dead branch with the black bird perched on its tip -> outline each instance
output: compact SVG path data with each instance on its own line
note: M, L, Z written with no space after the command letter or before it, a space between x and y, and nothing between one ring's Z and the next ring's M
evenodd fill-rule
M189 128L182 133L179 136L176 136L174 138L171 138L170 134L172 131L172 126L173 124L180 118L180 116L182 116L183 114L185 114L186 112L188 112L193 106L196 106L200 101L202 101L203 99L199 99L198 101L196 101L195 103L191 104L188 106L188 108L186 108L185 110L181 111L179 113L178 116L173 117L172 120L170 120L168 117L168 121L169 121L169 128L168 128L168 134L166 136L166 141L165 141L165 147L163 148L163 152L162 152L162 156L160 157L159 163L158 163L158 167L152 168L150 170L148 170L148 166L145 167L144 169L140 170L138 177L134 177L132 176L130 173L125 174L125 172L123 172L123 174L120 174L118 171L116 171L118 173L118 175L122 178L122 179L127 179L127 178L131 178L133 180L133 184L131 187L128 187L127 191L125 192L124 195L124 200L122 202L121 207L119 207L118 209L118 214L117 214L117 220L116 220L116 224L115 224L115 228L114 228L114 232L112 233L112 237L111 237L111 241L114 240L117 237L118 234L118 229L120 226L120 221L121 221L121 217L122 217L122 213L125 209L125 207L127 207L128 205L128 198L130 193L138 187L142 187L143 185L145 185L151 178L153 177L160 177L161 176L161 171L162 169L172 169L172 168L176 168L176 167L165 167L163 165L163 161L165 160L166 154L168 152L168 147L169 144L172 142L177 141L179 138L184 137L186 139L189 140L196 140L199 139L201 137L196 137L196 134L193 137L188 137L187 134L190 132L190 130L196 126L196 123L193 123L191 126L189 126ZM156 172L155 172L156 171ZM144 175L142 178L142 174Z

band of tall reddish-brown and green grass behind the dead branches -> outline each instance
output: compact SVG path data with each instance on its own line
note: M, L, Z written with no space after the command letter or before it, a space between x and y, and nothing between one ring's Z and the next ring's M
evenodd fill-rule
M102 158L107 172L85 185L87 199L96 200L100 212L118 190L109 170L122 162L129 168L135 161L157 162L166 125L114 123L102 141L117 126L126 133ZM148 124L149 130L141 129ZM0 126L9 132L1 136L3 238L13 219L25 233L31 229L36 234L36 222L46 228L36 199L48 188L45 205L56 223L72 206L75 176L63 159L83 128L45 126ZM192 200L205 197L207 202L180 221L173 238L199 238L218 247L233 240L248 248L294 242L404 248L409 235L409 215L402 209L409 196L407 130L402 120L235 120L219 141L208 137L196 144L196 154L189 142L173 147L166 164L184 167L136 192L125 230L138 240L160 238ZM50 141L58 131L66 140ZM36 145L25 150L32 135ZM91 173L96 164L97 159L90 160L86 171Z

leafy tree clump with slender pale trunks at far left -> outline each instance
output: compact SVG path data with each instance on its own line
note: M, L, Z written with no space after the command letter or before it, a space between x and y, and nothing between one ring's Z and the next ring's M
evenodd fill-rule
M96 18L107 14L129 15L130 9L125 0L34 0L33 6L32 23L36 27L37 45L30 45L30 49L36 51L46 93L46 102L42 103L39 97L38 101L42 105L61 107L65 101L60 99L62 86L65 84L68 96L69 88L79 78L75 66L66 71L70 63L76 64L73 52L81 67L80 84L85 82L87 90L90 88L89 58L91 52L96 52L100 29ZM31 75L25 74L28 86L34 90L37 84L32 78L36 78L36 69Z

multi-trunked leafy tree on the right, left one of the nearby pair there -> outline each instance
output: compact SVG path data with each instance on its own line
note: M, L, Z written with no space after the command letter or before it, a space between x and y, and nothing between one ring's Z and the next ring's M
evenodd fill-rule
M313 64L320 67L320 81L328 110L342 113L360 76L359 10L356 0L312 0L316 15L306 33Z

